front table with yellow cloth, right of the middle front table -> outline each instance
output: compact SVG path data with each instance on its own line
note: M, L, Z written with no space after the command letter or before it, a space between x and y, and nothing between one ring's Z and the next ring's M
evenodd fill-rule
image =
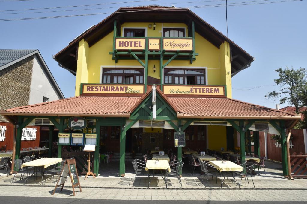
M234 176L235 172L236 171L243 171L243 167L242 166L237 165L237 164L235 164L235 163L233 163L231 161L224 161L224 163L222 161L209 161L209 164L214 166L220 172L232 172L233 182L235 182L235 176ZM224 182L225 177L226 177L226 175L224 176L223 180L222 180L222 177L221 177L221 187L223 187L223 183L225 183ZM238 181L237 181L237 183L239 184Z

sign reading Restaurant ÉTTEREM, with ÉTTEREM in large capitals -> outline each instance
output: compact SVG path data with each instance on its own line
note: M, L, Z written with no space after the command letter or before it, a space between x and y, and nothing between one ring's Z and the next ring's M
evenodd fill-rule
M224 96L223 86L173 86L164 85L163 93L165 95L208 95L208 96Z

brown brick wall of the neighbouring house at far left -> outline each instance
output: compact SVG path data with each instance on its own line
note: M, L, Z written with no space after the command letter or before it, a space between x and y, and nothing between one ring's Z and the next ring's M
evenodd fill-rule
M0 70L0 109L29 105L34 55ZM0 115L0 122L8 122Z

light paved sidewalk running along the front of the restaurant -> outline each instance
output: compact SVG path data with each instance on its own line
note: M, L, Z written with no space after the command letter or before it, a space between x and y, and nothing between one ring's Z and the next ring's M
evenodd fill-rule
M55 195L51 195L57 182L47 180L44 186L41 185L41 177L37 180L30 177L28 184L24 185L23 180L11 184L13 176L6 176L0 170L0 196L26 196L26 197L52 197L52 198L91 198L91 199L123 199L123 200L208 200L208 201L307 201L307 179L289 180L281 176L279 164L266 163L270 168L266 169L267 175L254 176L255 188L250 183L241 180L241 188L238 184L232 184L226 180L223 188L220 187L220 178L212 180L209 178L207 187L201 183L199 172L194 176L186 173L181 181L182 188L177 178L168 179L168 189L161 176L157 175L151 182L148 189L147 172L142 178L137 178L135 186L132 187L134 174L126 174L126 177L89 177L84 180L80 176L82 193L75 188L76 196L72 196L71 182L65 183L64 189L60 192L57 188ZM18 177L17 175L16 177ZM12 193L13 192L13 193Z

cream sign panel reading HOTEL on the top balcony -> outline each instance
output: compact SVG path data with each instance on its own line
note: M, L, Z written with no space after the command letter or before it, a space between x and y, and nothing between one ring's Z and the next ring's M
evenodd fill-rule
M145 39L123 39L116 38L116 50L144 50Z

